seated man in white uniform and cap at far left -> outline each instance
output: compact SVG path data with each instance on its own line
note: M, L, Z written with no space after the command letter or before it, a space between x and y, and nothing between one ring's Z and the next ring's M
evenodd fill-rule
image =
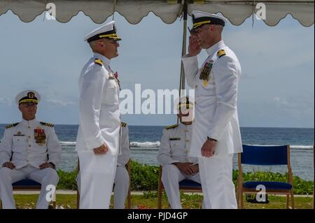
M52 124L35 118L38 92L27 90L16 96L22 122L6 127L0 143L0 199L3 208L15 208L12 184L30 179L41 183L36 208L47 209L46 187L57 186L55 165L61 160L61 147Z

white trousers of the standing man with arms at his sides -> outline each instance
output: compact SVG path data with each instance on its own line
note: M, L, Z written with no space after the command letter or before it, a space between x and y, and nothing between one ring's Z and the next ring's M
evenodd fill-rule
M80 209L109 209L117 156L78 152L80 160Z

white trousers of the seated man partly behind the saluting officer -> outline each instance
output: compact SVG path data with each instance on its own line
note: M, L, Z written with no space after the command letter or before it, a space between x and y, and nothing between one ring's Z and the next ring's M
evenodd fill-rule
M185 179L201 183L199 173L185 175L173 164L167 164L162 167L162 182L172 209L182 209L179 194L179 182Z

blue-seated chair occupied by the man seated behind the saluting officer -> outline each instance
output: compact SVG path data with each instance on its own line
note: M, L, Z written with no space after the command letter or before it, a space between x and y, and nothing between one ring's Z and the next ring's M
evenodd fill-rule
M162 166L159 170L159 186L158 186L158 209L162 209L162 192L164 185L162 182ZM202 185L193 180L182 180L179 182L179 190L184 192L202 192Z

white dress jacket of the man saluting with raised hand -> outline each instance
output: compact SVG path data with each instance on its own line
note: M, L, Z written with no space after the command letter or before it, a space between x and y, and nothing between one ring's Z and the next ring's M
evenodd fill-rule
M226 55L218 58L219 50L224 50ZM197 56L182 58L188 85L195 89L192 157L202 157L201 148L207 136L218 141L216 154L242 152L237 116L237 87L241 75L239 60L223 41L207 49L207 53L209 57L204 64L213 61L207 85L200 80L204 64L199 69Z

